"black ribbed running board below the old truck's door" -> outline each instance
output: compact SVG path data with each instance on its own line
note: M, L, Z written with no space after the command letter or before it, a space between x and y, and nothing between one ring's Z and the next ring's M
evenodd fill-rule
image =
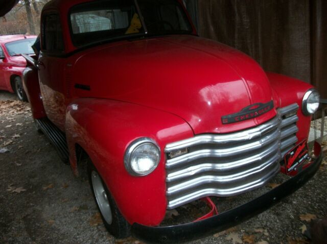
M35 119L35 123L37 128L41 129L44 135L54 145L60 159L65 164L69 164L69 152L65 134L59 130L58 127L56 127L48 118Z

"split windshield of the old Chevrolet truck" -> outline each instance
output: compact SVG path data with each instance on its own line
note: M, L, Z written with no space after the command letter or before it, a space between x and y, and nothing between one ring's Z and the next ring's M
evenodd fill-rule
M72 41L77 47L146 34L191 34L193 31L177 0L92 1L74 6L69 21Z

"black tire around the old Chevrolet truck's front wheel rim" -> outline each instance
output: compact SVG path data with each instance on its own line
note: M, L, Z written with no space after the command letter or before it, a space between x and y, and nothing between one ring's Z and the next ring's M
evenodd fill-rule
M128 236L130 236L130 224L126 221L126 219L123 217L123 215L121 214L121 212L119 211L118 207L116 206L116 203L114 202L106 184L104 183L104 181L102 180L100 174L98 173L98 170L96 169L96 167L91 163L91 161L88 161L88 166L87 166L87 174L88 174L88 181L90 183L91 186L91 191L93 194L93 197L95 199L95 202L97 204L98 210L101 214L101 218L103 221L104 226L106 227L106 229L108 230L108 232L113 235L116 238L126 238ZM108 219L108 217L103 215L103 211L101 210L100 206L99 206L99 202L98 199L96 197L96 193L95 193L95 187L92 181L92 177L94 177L94 174L97 174L98 177L100 178L102 184L103 184L103 188L104 191L106 193L106 197L107 200L109 202L109 206L111 209L111 223L108 223L106 219ZM96 184L96 183L95 183Z

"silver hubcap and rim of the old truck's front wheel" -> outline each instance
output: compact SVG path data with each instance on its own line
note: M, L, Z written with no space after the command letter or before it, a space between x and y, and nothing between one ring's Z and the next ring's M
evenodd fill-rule
M105 221L110 225L112 223L112 213L108 196L99 174L95 171L91 173L92 187L96 196L97 204Z

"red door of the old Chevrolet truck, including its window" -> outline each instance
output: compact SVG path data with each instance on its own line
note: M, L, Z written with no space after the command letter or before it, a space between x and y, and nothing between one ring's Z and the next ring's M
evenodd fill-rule
M65 126L64 42L57 12L42 15L41 52L38 60L42 102L48 118L59 129Z

